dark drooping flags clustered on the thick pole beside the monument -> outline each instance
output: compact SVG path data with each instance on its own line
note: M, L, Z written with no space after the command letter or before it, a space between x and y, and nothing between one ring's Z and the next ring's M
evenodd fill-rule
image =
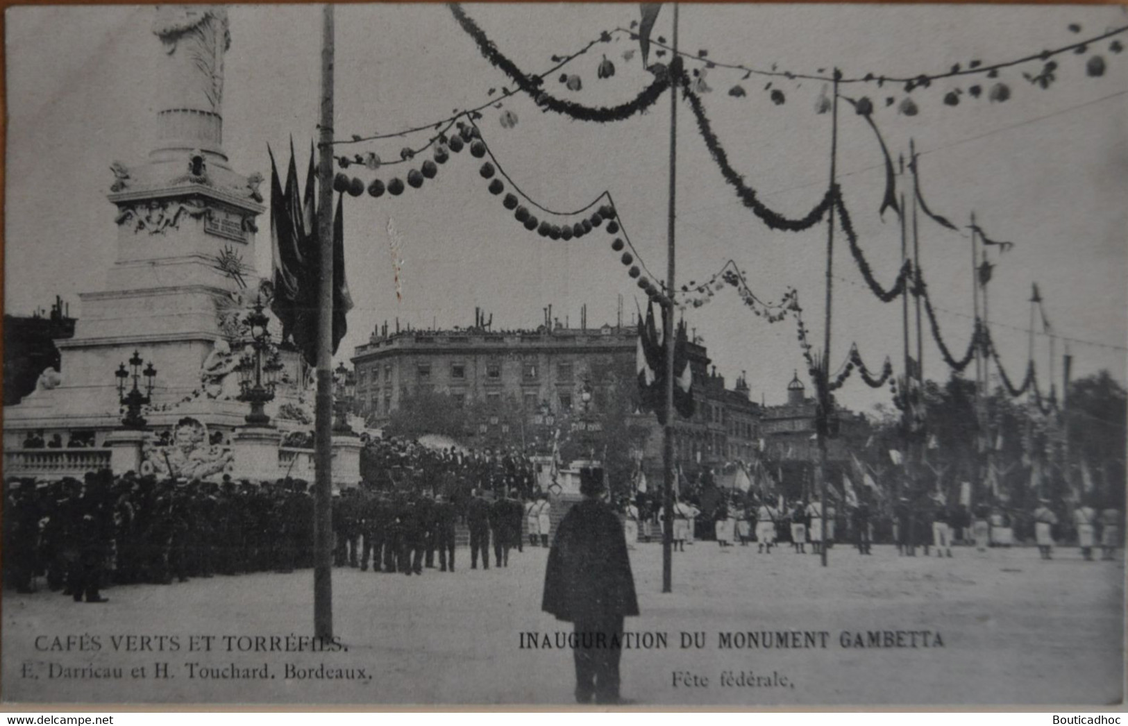
M306 363L317 365L317 324L320 287L320 247L317 240L316 179L310 148L305 193L298 184L293 145L285 187L271 154L271 245L274 258L274 296L271 311L282 324L282 339L290 339ZM345 278L343 195L337 198L333 221L333 352L345 336L345 316L352 309Z

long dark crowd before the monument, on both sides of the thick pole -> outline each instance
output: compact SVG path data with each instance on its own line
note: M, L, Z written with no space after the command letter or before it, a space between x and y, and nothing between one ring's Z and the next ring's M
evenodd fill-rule
M446 475L449 470L441 472ZM470 569L509 565L548 544L547 495L477 486L462 493L444 477L381 488L364 482L333 499L334 559L340 567L420 575L455 572L456 525L469 534ZM523 502L522 502L523 499ZM314 498L309 482L255 484L158 479L134 472L89 472L82 479L9 479L3 507L5 585L45 585L74 601L106 602L112 584L171 584L192 577L314 566ZM492 548L491 548L492 546Z

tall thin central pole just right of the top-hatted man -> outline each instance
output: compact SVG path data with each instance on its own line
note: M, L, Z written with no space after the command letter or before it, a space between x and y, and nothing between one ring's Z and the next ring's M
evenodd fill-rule
M678 55L678 3L673 3L673 55L670 59L670 70L676 67ZM678 178L678 82L670 78L670 201L667 214L666 240L666 293L663 303L662 330L666 335L666 420L663 422L662 469L664 481L662 487L662 511L666 521L662 523L662 592L673 592L673 269L675 244L673 224L677 218L677 178Z

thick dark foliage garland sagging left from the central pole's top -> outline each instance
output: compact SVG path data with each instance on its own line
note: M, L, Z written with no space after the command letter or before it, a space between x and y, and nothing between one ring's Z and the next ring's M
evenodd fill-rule
M451 2L447 7L450 8L451 15L455 16L456 20L458 20L462 30L465 30L466 34L469 35L477 44L482 56L490 61L494 68L497 68L509 76L513 82L517 83L518 88L531 96L536 100L537 105L545 110L552 110L576 121L593 121L597 123L624 121L653 106L658 103L662 92L670 87L671 74L659 74L654 81L640 91L637 96L624 104L619 104L618 106L585 106L583 104L565 100L563 98L556 98L544 89L543 77L528 76L505 54L499 51L494 42L490 39L481 27L478 27L478 24L462 11L461 5ZM601 39L609 41L610 35L605 34Z

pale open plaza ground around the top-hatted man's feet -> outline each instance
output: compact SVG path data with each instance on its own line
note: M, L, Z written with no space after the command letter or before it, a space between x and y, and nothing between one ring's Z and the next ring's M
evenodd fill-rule
M453 574L335 569L335 631L347 647L337 653L222 649L224 635L281 636L282 643L289 635L309 635L310 570L113 587L107 604L6 592L3 698L569 703L571 652L521 647L522 632L552 639L571 630L539 609L546 550L526 547L513 554L509 568L487 572L469 570L467 555L458 551ZM661 594L661 547L638 544L631 556L642 616L628 619L627 630L655 634L654 639L666 634L668 647L624 652L623 694L638 706L1118 702L1125 652L1121 555L1116 563L1086 563L1067 548L1042 561L1033 548L957 548L951 559L909 558L883 546L860 557L838 546L823 569L818 557L794 554L790 546L765 556L755 546L720 550L715 542L697 542L676 554L673 593ZM778 631L803 632L787 637L788 648L720 647L721 634L732 634L732 645L752 637L738 634L761 634L778 645ZM875 641L870 631L880 631ZM704 634L704 647L682 648L682 632ZM854 634L862 634L862 645L896 645L899 638L905 647L856 647ZM164 652L125 653L115 650L118 635L168 638ZM190 652L190 637L204 635L217 636L212 652ZM70 650L45 649L67 647L67 636ZM95 639L99 649L78 649ZM920 647L926 639L932 647ZM794 647L812 640L816 647ZM132 647L141 645L133 639ZM156 678L158 662L167 664L170 678ZM190 678L188 663L257 669L261 678ZM290 673L340 670L354 678L287 679L288 664ZM319 664L327 671L318 671ZM120 678L90 678L115 667ZM143 678L134 678L134 669L144 669Z

